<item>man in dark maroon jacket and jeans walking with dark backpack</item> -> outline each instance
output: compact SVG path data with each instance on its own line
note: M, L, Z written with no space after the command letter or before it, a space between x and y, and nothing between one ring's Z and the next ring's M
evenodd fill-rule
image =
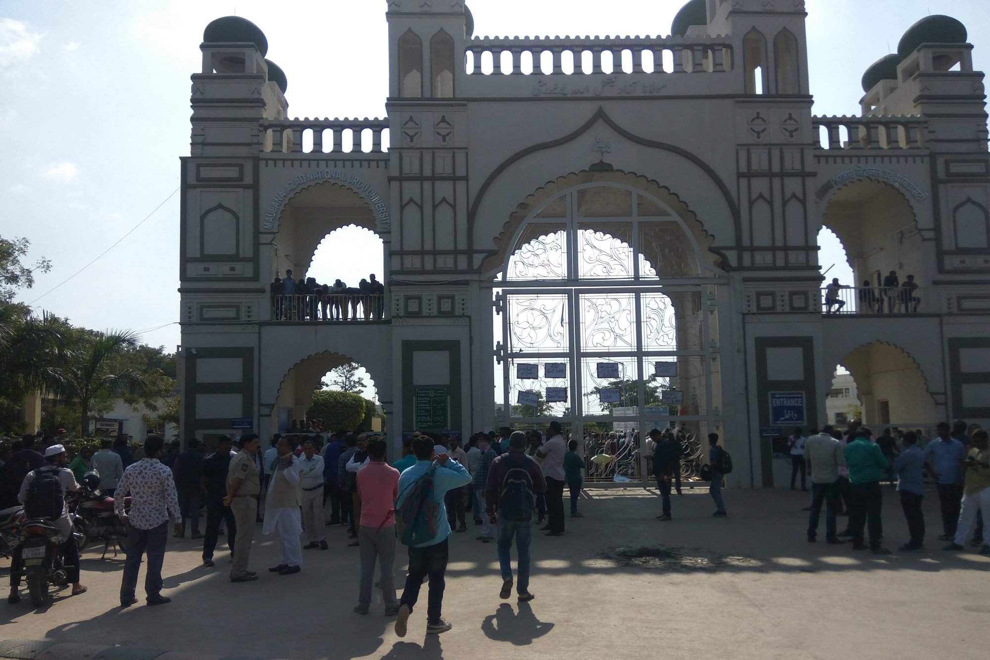
M502 591L506 600L512 594L512 539L519 554L520 603L535 597L530 593L530 540L533 538L533 511L538 493L546 492L540 466L526 455L526 433L514 431L504 454L492 462L485 486L485 505L490 523L498 524L498 562L502 568Z

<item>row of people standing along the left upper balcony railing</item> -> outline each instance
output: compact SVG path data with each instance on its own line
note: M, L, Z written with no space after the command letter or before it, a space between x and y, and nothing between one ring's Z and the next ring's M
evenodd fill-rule
M385 314L385 285L372 273L357 286L336 279L321 284L315 277L295 279L292 271L276 276L268 287L271 294L271 318L283 321L347 321L359 318L380 320Z

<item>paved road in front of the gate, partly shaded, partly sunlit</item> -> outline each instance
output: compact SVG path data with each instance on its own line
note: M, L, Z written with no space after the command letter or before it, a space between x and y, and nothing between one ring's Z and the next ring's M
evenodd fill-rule
M173 603L121 609L123 557L101 561L99 550L87 550L89 593L47 610L27 599L0 605L0 638L296 660L986 657L990 557L940 550L934 492L925 502L930 551L883 558L807 543L800 492L726 492L727 519L711 517L707 494L675 497L668 523L653 518L658 500L642 490L589 493L585 517L568 517L566 536L535 536L537 599L529 605L499 600L495 545L475 541L476 527L451 535L444 615L454 627L440 636L424 634L425 589L405 639L377 594L371 614L351 611L358 559L343 528L328 528L330 550L305 552L302 573L279 577L264 570L277 561L259 526L255 583L231 584L226 558L203 568L200 541L169 539L164 594ZM896 548L906 525L896 494L884 496L885 533ZM676 570L636 565L662 558L609 554L632 545L673 549Z

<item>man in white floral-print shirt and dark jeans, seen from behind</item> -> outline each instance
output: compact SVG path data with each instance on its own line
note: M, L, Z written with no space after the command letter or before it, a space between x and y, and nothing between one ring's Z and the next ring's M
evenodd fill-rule
M135 590L138 586L138 570L141 559L148 552L148 575L145 577L145 593L148 605L170 603L161 596L161 564L165 559L165 543L168 540L168 515L175 518L175 532L180 528L182 513L172 471L161 464L161 450L165 440L159 435L145 440L145 458L128 466L114 493L114 510L125 524L130 525L127 539L127 562L121 583L121 606L138 602ZM124 498L131 495L131 512L124 512Z

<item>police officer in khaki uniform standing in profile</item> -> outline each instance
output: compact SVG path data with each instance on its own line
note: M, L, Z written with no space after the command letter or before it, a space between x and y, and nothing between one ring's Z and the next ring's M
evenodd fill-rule
M247 570L250 557L250 543L254 538L254 524L257 516L257 495L261 492L261 482L255 467L255 456L261 441L254 433L241 436L241 451L231 459L227 472L227 496L224 506L230 506L237 522L238 535L234 542L234 565L231 567L231 582L252 582L257 573Z

